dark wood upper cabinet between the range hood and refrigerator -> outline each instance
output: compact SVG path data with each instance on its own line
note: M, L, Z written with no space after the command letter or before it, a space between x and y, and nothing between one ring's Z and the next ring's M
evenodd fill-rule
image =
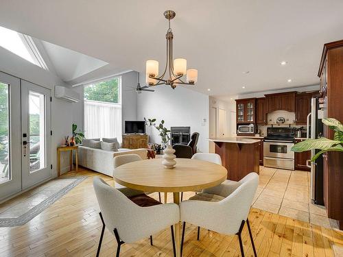
M311 98L318 97L318 91L296 93L296 124L307 123L307 115L311 112Z

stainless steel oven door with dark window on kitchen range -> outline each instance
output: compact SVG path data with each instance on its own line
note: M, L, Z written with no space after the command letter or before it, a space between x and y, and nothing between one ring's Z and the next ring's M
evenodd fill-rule
M263 143L263 156L274 158L287 158L294 159L294 151L291 148L294 143L289 142L264 142Z

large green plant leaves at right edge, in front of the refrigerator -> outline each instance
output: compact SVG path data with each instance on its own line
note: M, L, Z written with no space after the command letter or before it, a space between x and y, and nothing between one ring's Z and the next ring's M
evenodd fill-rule
M327 151L343 151L342 123L333 118L322 119L322 123L329 126L331 130L335 131L333 140L329 138L307 139L294 145L294 147L292 147L292 151L301 152L309 151L311 149L320 149L320 151L318 151L318 153L311 159L311 162L314 162L320 155Z

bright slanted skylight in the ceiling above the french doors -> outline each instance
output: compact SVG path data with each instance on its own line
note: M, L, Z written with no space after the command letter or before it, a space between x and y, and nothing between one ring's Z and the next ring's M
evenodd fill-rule
M43 69L47 69L47 65L30 36L0 26L0 47Z

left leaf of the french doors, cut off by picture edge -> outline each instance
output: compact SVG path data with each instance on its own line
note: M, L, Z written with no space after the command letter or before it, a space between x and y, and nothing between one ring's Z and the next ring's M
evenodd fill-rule
M0 72L0 201L21 191L20 79Z

